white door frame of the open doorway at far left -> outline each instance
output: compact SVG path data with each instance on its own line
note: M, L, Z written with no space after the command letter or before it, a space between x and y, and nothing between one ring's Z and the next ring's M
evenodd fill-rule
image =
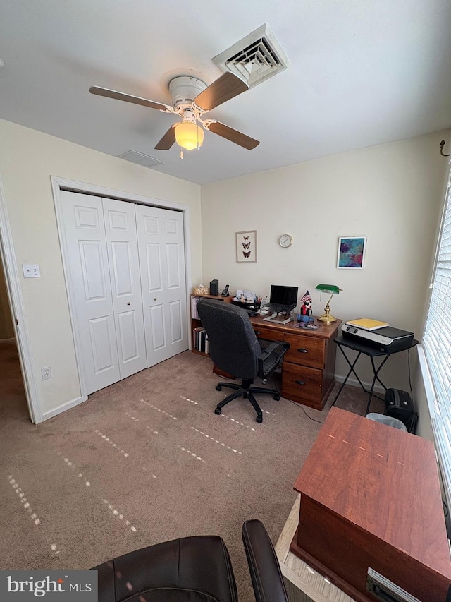
M14 332L18 349L20 368L25 387L30 419L37 424L44 421L41 400L36 386L35 371L32 360L30 337L28 336L25 306L20 289L19 272L14 253L13 235L9 225L8 212L4 195L3 181L0 174L0 255L4 265L6 290L13 315Z

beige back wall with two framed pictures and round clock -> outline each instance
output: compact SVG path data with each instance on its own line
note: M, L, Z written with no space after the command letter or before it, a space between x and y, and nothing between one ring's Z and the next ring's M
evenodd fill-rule
M202 186L204 282L218 278L220 289L230 284L262 296L271 284L295 285L299 296L310 291L315 315L327 300L316 284L338 284L343 291L331 301L338 318L385 320L420 337L447 168L439 143L447 134ZM247 229L257 230L258 261L237 264L235 231ZM294 238L288 249L278 245L285 232ZM364 270L337 269L338 237L363 235ZM366 359L359 366L368 381ZM338 357L338 375L346 368ZM409 390L407 353L390 358L382 375L389 387Z

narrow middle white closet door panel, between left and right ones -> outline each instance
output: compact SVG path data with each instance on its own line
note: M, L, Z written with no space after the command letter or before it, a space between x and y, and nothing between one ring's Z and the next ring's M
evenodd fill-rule
M121 378L147 367L135 205L102 199Z

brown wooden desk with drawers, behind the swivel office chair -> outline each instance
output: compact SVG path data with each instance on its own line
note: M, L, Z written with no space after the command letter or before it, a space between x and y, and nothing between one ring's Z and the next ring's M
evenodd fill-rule
M321 410L335 385L335 351L333 339L342 320L324 324L316 320L318 330L306 330L294 322L265 322L264 316L251 318L261 339L285 341L290 349L283 357L282 395L293 402Z

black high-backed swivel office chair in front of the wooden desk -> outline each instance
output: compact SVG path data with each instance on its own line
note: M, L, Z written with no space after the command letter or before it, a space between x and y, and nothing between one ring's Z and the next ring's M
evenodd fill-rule
M257 412L257 422L263 421L263 414L254 393L273 395L280 399L275 389L253 387L254 378L266 379L277 368L290 344L282 341L257 339L248 313L232 303L215 299L199 299L197 313L202 320L209 339L209 354L218 368L242 379L241 385L218 383L216 390L222 387L234 389L215 409L221 414L221 408L236 397L245 397Z

